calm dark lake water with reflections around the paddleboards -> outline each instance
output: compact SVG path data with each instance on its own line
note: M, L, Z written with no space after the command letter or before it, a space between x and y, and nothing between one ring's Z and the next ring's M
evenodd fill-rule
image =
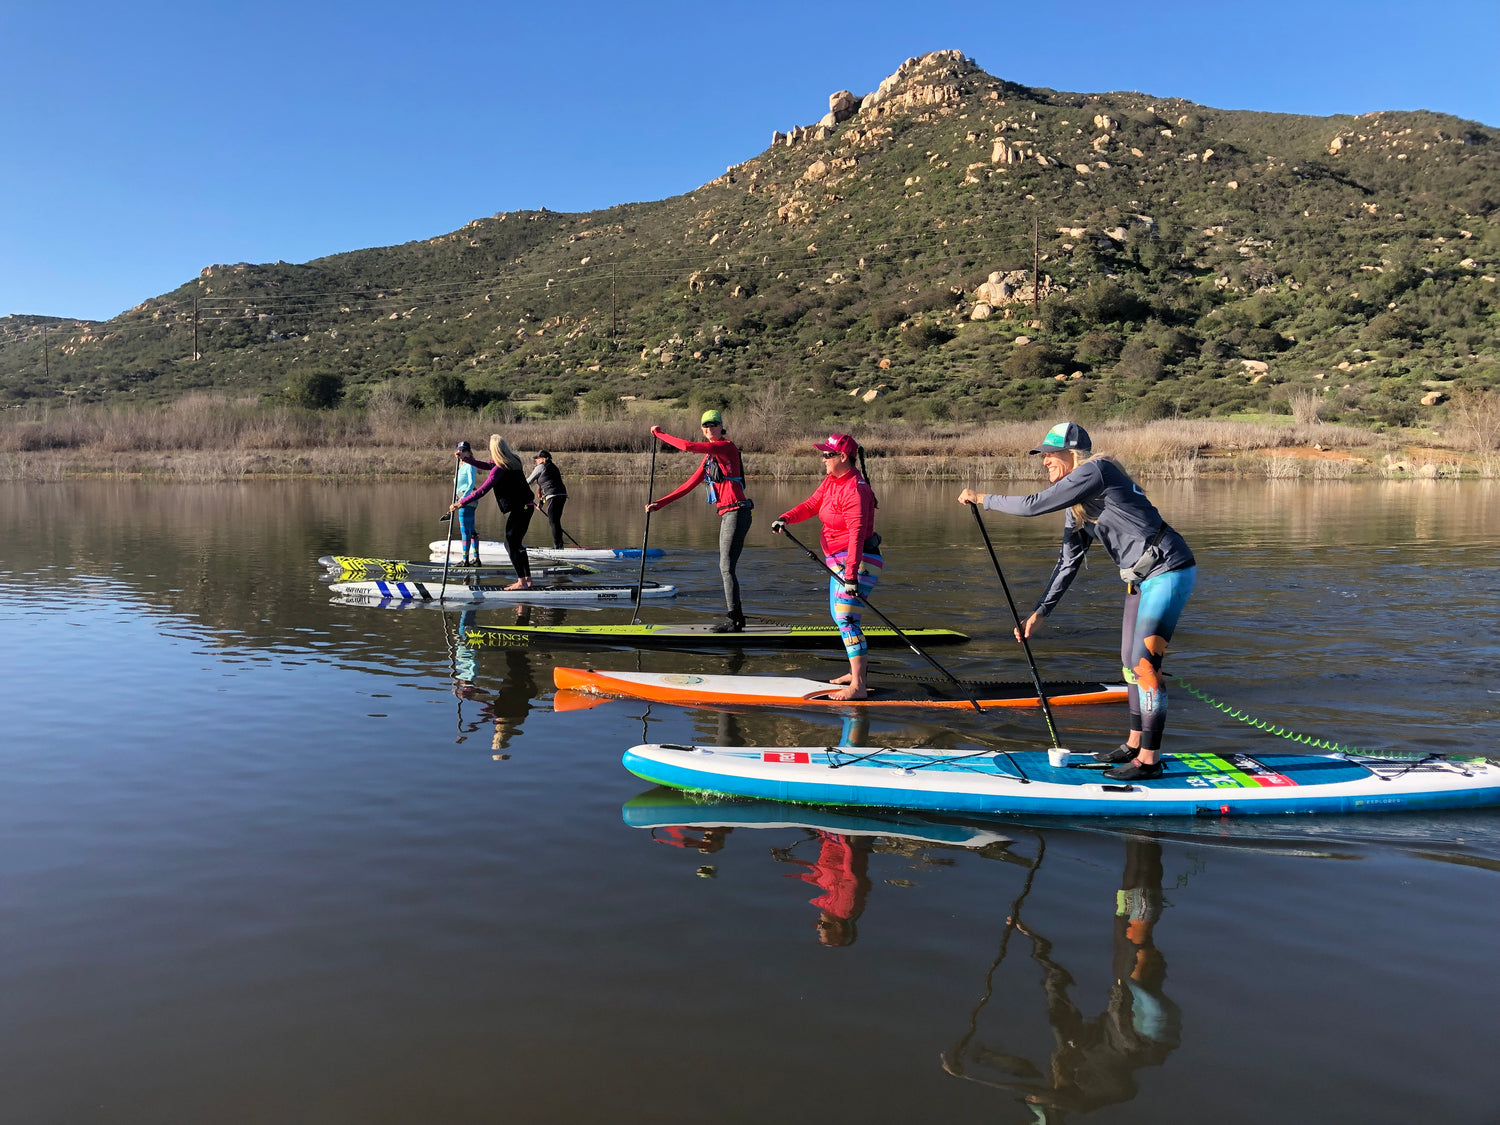
M753 489L754 615L825 620L812 562L770 536L810 486ZM570 530L639 544L642 490L574 482ZM1148 490L1200 562L1168 670L1360 748L1500 753L1500 488ZM969 632L934 652L956 672L1023 680L956 492L882 489L876 604ZM330 604L316 556L422 558L441 502L430 483L0 486L6 1122L1500 1114L1500 813L674 828L765 810L674 810L622 750L824 744L838 717L554 712L552 668L834 675L837 654L456 651L454 612ZM988 520L1023 609L1059 524ZM682 596L642 616L722 612L700 496L651 530L650 576ZM1118 676L1120 584L1095 554L1035 644L1048 678ZM1124 708L1058 722L1077 750L1126 728ZM884 712L867 736L1047 742L1030 711ZM1176 686L1167 740L1294 748Z

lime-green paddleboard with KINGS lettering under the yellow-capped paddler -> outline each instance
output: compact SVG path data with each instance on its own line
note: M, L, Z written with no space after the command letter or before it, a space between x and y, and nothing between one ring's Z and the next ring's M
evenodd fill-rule
M468 632L470 644L492 648L546 648L550 645L626 645L646 648L660 645L744 648L842 648L843 639L832 626L760 626L748 624L740 633L716 633L712 624L688 622L668 626L488 626ZM900 645L902 638L890 628L864 630L872 645ZM908 628L906 636L924 645L957 645L969 638L951 628Z

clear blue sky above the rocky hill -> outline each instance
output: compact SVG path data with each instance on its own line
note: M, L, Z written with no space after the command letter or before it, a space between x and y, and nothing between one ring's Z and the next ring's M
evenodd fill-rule
M944 48L1058 90L1500 124L1494 0L0 0L0 315L106 318L210 262L675 195Z

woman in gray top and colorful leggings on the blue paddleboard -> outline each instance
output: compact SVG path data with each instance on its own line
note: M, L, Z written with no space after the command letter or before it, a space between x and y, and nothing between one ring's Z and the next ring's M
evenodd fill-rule
M1042 618L1058 608L1083 566L1083 555L1098 540L1125 580L1125 618L1120 628L1120 664L1130 686L1130 738L1094 758L1118 764L1104 776L1116 782L1161 777L1161 732L1167 726L1167 688L1161 662L1178 627L1197 561L1186 542L1161 518L1146 494L1112 458L1094 454L1088 430L1062 422L1047 430L1032 453L1042 454L1050 488L1030 496L1005 496L964 489L960 504L978 504L1010 516L1068 514L1062 520L1062 550L1036 609L1016 639L1028 639Z

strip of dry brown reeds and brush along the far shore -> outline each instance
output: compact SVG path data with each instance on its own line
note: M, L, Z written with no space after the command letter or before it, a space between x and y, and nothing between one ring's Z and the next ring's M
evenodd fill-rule
M1484 399L1490 414L1500 414L1500 404ZM550 450L574 478L634 478L646 476L652 424L670 434L698 434L693 411L666 404L640 406L630 416L532 420L447 408L315 411L195 393L147 408L12 410L0 416L0 480L441 477L452 468L450 452L459 438L484 442L492 432L525 453ZM810 450L826 429L798 423L776 404L736 411L728 420L752 477L819 476ZM885 422L850 429L868 452L874 480L1029 480L1036 465L1028 450L1053 422ZM1424 430L1374 434L1292 417L1077 422L1089 428L1098 452L1152 480L1500 478L1500 418L1488 416L1455 435L1462 448L1440 444Z

